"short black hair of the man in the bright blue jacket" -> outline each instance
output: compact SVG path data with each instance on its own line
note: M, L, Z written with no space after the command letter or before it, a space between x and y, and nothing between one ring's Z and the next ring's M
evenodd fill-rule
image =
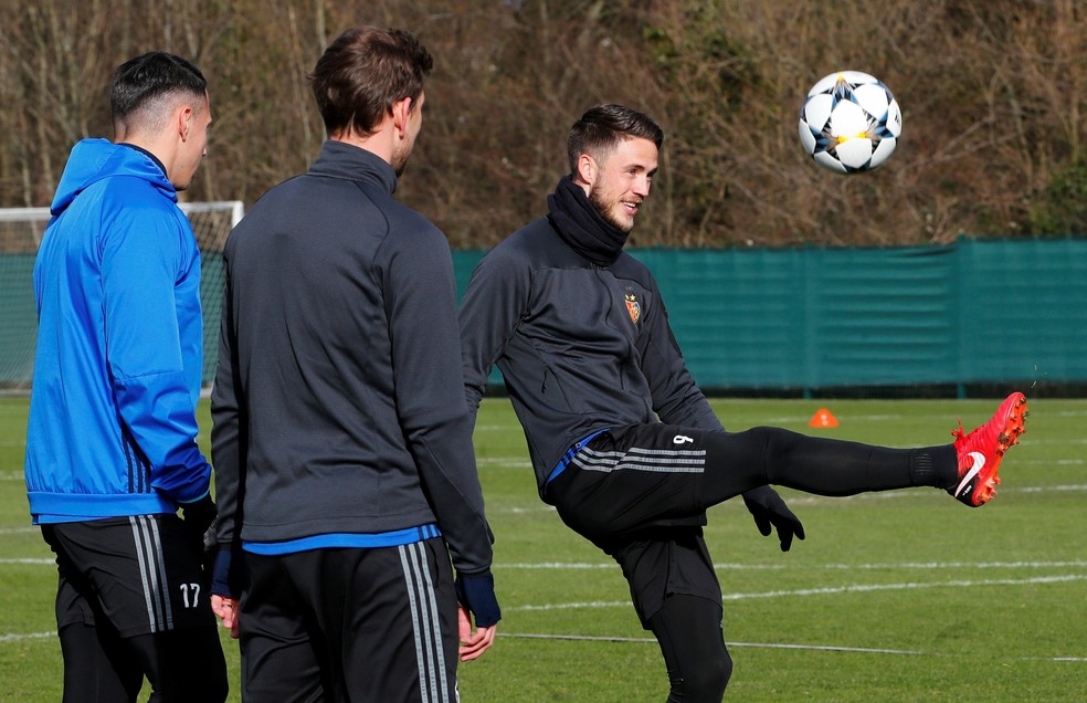
M109 93L114 126L130 118L158 98L171 93L203 97L208 81L200 69L181 56L151 51L129 59L114 72Z

